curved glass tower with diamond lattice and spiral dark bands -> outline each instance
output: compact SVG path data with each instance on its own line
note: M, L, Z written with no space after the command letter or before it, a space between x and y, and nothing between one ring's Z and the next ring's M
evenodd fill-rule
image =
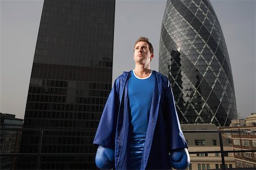
M224 36L208 0L168 0L159 71L170 79L182 124L228 126L237 118Z

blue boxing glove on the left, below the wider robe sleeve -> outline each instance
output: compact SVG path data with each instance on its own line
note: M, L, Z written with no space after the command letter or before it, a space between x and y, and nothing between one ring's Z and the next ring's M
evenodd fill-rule
M114 150L104 146L98 146L95 163L100 169L111 169L114 167Z

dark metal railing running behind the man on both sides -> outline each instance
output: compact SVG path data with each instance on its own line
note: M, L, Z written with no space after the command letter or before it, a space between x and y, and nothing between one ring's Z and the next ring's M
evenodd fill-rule
M2 151L4 146L1 146L1 158L3 157L11 157L11 158L16 158L16 157L26 157L26 156L35 156L36 157L36 169L40 169L41 161L42 161L42 156L93 156L94 154L92 153L76 153L76 152L68 152L68 153L45 153L42 152L42 147L44 146L43 140L45 137L46 132L77 132L77 131L85 131L85 130L94 130L94 129L30 129L30 128L20 128L20 129L12 129L12 128L1 128L1 138L3 138L3 135L6 135L6 132L10 131L16 131L16 137L13 152L11 153L5 153ZM38 150L37 152L34 153L21 153L19 152L19 145L20 145L20 137L22 136L22 133L24 131L36 131L39 132L39 140L38 140ZM221 154L221 169L227 169L225 166L225 153L237 153L237 152L256 152L256 150L225 150L224 151L224 145L222 141L222 133L255 133L255 131L241 131L241 130L183 130L183 133L218 133L218 137L220 140L220 150L219 151L191 151L189 154L212 154L212 153L220 153ZM13 133L12 133L13 134ZM86 138L86 137L85 137ZM88 143L91 144L91 143ZM5 145L5 143L1 142L1 145ZM2 163L1 163L2 164ZM15 169L15 159L13 162L12 169ZM235 168L234 168L235 169Z

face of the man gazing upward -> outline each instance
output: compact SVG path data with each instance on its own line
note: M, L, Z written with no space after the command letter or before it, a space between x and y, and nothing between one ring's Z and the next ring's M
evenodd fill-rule
M139 41L134 47L133 59L135 62L139 63L150 63L151 59L154 57L150 53L148 44L145 41Z

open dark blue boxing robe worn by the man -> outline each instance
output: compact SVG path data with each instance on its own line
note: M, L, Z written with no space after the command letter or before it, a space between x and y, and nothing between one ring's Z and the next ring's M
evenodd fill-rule
M141 169L170 169L169 152L188 146L180 128L170 82L166 76L156 71L155 75L156 86L152 96ZM123 72L115 80L93 141L95 145L115 151L115 169L127 169L129 76L130 72Z

